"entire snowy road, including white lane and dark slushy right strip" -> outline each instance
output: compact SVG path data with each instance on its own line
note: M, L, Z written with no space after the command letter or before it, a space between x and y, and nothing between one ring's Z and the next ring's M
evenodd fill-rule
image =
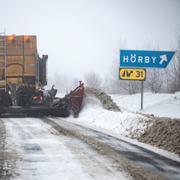
M9 118L2 122L6 127L6 144L0 175L4 177L16 180L180 177L179 162L62 118Z

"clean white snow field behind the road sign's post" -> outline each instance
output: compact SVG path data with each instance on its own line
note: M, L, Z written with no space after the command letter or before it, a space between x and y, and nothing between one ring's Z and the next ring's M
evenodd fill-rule
M142 111L140 110L140 94L111 95L111 97L122 111L180 118L180 92L175 94L144 93L144 109Z

